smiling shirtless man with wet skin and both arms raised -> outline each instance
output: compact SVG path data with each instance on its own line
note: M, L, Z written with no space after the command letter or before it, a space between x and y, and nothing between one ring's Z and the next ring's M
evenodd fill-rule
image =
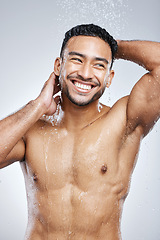
M99 103L114 58L148 70L113 107ZM53 98L61 90L59 97ZM93 24L63 41L40 95L0 123L0 166L19 161L27 240L119 240L141 139L160 116L160 44L118 41ZM49 116L49 117L47 117Z

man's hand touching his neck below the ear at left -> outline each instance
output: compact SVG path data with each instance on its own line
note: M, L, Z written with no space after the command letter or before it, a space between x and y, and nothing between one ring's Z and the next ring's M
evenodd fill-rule
M40 95L37 100L40 101L43 107L43 114L52 115L57 109L57 103L60 97L54 95L60 91L58 76L53 72L49 79L45 82Z

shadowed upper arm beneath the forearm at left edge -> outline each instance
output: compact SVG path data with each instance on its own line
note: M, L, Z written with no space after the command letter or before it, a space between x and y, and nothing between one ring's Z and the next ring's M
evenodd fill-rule
M14 162L23 161L25 156L25 143L20 139L8 156L1 162L0 168L4 168Z

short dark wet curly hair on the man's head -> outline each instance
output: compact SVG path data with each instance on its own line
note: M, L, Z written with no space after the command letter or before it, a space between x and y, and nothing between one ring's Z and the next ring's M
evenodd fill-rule
M60 57L61 58L63 57L64 49L66 47L68 40L74 36L79 36L79 35L99 37L102 40L104 40L106 43L108 43L112 52L112 62L110 67L112 68L114 57L118 48L117 42L104 28L101 28L100 26L97 26L94 24L77 25L71 28L70 30L68 30L65 33L65 38L63 39Z

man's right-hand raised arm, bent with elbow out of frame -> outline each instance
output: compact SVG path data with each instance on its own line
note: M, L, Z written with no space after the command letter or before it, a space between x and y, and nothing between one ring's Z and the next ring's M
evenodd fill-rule
M127 105L127 134L139 127L145 136L160 117L160 43L118 41L116 58L148 71L132 89Z

